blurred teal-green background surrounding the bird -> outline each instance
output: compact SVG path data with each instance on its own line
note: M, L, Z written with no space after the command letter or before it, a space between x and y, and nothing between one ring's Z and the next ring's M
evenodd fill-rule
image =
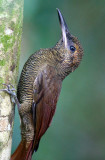
M33 160L105 159L105 1L25 0L20 72L28 57L60 38L56 8L84 48L81 65L63 82L51 127ZM16 111L12 152L20 141Z

